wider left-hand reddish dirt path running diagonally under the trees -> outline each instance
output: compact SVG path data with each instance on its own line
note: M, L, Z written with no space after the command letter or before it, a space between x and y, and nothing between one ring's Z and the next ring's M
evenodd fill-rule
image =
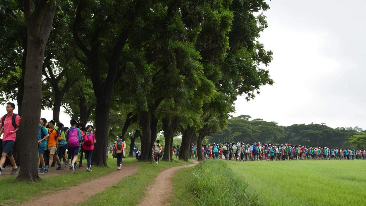
M123 165L120 171L113 171L106 176L92 180L87 183L76 185L68 189L59 190L56 193L42 196L40 199L34 201L27 201L21 205L27 206L40 206L40 205L52 205L52 206L66 206L74 205L79 202L86 201L91 195L97 194L105 190L107 187L111 187L123 177L135 173L139 168L139 165ZM72 198L66 197L65 194L73 194ZM47 204L49 203L49 204Z

